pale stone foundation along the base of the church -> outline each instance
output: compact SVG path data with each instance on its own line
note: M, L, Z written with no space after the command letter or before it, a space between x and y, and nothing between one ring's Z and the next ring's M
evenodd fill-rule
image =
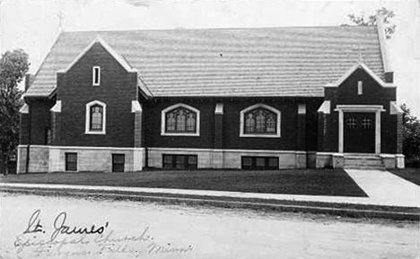
M18 147L17 173L66 171L66 152L77 153L77 171L112 171L112 154L125 155L125 172L141 171L145 167L144 148L65 147L31 145L27 170L28 146ZM162 168L163 154L197 155L197 168L241 168L241 157L276 157L278 168L344 168L345 154L305 151L247 151L214 149L148 148L147 166ZM372 154L372 156L375 156ZM381 154L377 156L383 168L404 168L404 156Z

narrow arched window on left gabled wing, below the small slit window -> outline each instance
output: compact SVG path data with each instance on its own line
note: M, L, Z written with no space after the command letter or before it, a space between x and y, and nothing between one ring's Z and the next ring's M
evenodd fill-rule
M106 105L99 100L86 104L86 134L105 134Z

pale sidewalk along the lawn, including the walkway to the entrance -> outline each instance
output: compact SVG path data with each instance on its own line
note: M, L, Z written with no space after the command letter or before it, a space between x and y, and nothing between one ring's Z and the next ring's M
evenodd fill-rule
M420 187L397 177L387 171L346 169L354 181L363 188L369 197L320 196L297 194L256 194L225 191L165 189L123 186L75 186L46 184L13 184L0 183L0 187L42 188L49 190L105 191L126 192L132 194L178 194L195 196L231 197L239 199L278 200L316 203L346 203L380 206L398 206L418 208L420 203Z

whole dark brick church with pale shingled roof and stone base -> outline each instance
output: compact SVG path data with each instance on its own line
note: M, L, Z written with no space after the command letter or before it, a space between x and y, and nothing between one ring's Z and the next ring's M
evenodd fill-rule
M404 167L381 24L62 32L25 88L18 173Z

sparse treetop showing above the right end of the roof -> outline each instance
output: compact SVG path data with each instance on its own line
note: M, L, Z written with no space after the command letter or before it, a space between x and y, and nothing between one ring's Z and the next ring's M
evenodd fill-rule
M387 39L390 39L392 34L395 32L396 25L391 24L390 20L395 16L394 11L388 10L385 7L382 7L381 9L376 10L375 13L364 16L362 15L355 15L354 13L350 13L347 15L350 22L353 22L354 24L360 25L360 26L372 26L376 25L376 22L378 21L378 18L382 18L382 22L384 23L385 27L385 37ZM347 24L344 24L347 25Z

